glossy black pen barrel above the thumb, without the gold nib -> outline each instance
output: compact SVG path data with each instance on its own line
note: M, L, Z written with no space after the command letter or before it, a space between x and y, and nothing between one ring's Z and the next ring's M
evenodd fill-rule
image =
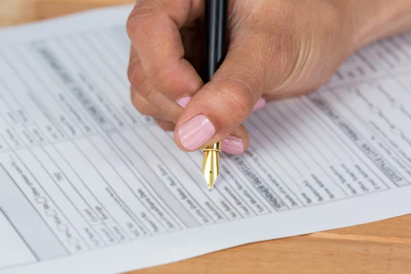
M227 54L228 0L206 0L203 81L210 82Z

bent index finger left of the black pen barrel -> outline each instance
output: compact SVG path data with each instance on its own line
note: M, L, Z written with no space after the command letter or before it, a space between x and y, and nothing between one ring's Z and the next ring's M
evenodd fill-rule
M184 59L179 34L179 28L199 16L202 4L202 0L142 0L127 20L127 34L147 78L173 101L202 85L197 71Z

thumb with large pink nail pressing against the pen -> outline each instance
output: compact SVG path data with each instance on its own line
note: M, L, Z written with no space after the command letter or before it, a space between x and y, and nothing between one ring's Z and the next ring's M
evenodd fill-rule
M256 49L256 40L250 40L254 42L231 47L211 81L187 100L175 127L175 140L180 148L194 151L223 140L247 119L256 105L261 105L266 70L262 51Z

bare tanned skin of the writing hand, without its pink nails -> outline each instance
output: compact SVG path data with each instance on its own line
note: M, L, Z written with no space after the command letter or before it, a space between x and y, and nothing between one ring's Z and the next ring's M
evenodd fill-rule
M247 149L242 122L260 98L294 97L319 88L360 47L411 31L410 0L229 1L229 50L211 82L199 77L202 0L138 0L127 21L128 77L136 109L175 131L203 114L215 134ZM182 108L177 101L190 96ZM261 106L261 100L259 105ZM193 150L192 148L190 150ZM230 150L233 153L232 149Z

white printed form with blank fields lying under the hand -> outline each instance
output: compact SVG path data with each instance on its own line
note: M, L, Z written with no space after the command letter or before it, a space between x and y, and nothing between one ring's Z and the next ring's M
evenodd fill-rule
M119 273L411 213L411 35L184 153L129 102L131 6L0 32L0 273ZM275 260L275 259L273 259Z

